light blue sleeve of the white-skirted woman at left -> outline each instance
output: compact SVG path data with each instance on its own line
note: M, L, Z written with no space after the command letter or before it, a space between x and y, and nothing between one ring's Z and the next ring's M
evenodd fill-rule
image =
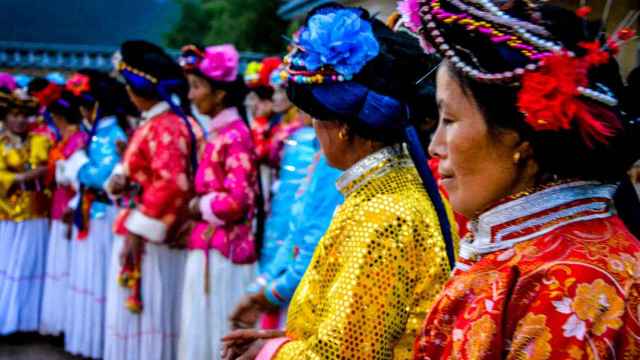
M112 126L104 134L96 134L89 144L89 162L78 172L78 181L87 187L102 190L113 168L120 162L117 142L127 141L124 131ZM94 143L95 142L95 143Z

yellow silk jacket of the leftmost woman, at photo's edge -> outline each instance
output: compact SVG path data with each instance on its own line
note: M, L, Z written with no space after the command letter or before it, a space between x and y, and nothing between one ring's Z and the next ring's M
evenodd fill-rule
M25 141L0 133L0 220L25 221L46 217L50 191L39 184L15 183L17 174L47 164L51 141L30 134Z

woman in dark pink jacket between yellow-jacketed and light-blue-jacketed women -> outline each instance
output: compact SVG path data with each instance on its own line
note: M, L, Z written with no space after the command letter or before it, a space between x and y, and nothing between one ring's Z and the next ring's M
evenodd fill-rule
M47 267L40 332L46 335L60 335L65 328L67 306L69 304L69 255L72 240L71 210L69 202L78 190L75 178L68 175L65 163L84 150L88 135L80 129L82 115L79 104L70 92L51 103L47 110L60 131L61 140L49 153L49 183L55 181L51 204L51 229L47 250Z

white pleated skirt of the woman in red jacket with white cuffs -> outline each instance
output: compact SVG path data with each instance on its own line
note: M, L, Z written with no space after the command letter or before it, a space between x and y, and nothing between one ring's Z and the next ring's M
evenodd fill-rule
M119 254L124 239L116 236L109 270L105 360L174 360L178 351L180 309L186 251L147 243L142 258L141 314L130 312L128 289L118 284Z

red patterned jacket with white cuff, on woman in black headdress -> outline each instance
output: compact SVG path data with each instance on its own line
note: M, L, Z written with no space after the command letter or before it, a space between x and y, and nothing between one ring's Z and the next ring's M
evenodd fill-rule
M151 242L175 243L179 227L187 219L193 196L190 164L192 144L183 120L159 103L143 114L147 120L135 131L123 159L123 173L140 185L135 209L123 210L116 219L116 233L131 232ZM193 119L196 151L203 138ZM184 245L184 244L182 244Z

